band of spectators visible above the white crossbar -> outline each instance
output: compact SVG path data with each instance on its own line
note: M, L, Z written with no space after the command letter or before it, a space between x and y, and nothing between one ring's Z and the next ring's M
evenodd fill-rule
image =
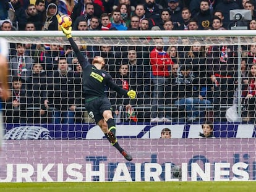
M254 6L254 0L3 0L0 20L9 19L13 30L25 30L28 22L35 30L58 30L62 14L70 15L75 30L82 21L87 22L82 30L229 30L234 25L229 10L251 10L254 20ZM189 28L192 20L196 26ZM250 22L243 24L255 29Z

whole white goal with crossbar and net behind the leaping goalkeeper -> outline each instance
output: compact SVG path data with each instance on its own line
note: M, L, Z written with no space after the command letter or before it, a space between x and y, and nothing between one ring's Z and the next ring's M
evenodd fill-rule
M88 63L102 56L117 85L137 91L106 87L131 163L88 115L61 31L0 36L12 91L0 182L255 180L254 31L72 31Z

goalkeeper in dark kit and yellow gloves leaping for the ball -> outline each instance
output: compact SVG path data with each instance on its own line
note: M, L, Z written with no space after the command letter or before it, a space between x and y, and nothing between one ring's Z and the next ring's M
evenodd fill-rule
M67 36L75 54L77 54L77 59L83 69L83 95L85 96L85 108L87 109L88 114L95 119L95 122L100 126L103 133L105 133L109 142L122 154L122 156L124 156L127 161L132 161L132 156L117 143L116 123L113 119L111 103L105 94L105 86L112 88L119 94L127 97L129 96L131 99L135 99L136 92L134 90L123 90L114 83L111 75L103 70L105 67L103 57L95 57L92 65L88 64L72 38L72 28L69 27L66 29L62 26L61 28L63 33Z

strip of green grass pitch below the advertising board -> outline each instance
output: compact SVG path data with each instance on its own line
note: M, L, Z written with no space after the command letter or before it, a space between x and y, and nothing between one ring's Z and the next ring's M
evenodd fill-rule
M0 183L1 192L77 191L255 191L256 182L81 182L81 183Z

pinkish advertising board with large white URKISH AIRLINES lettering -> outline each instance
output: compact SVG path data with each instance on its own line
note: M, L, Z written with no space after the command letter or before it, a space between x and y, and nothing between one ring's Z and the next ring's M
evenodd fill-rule
M107 140L7 140L0 182L256 180L254 138L120 139L127 162Z

